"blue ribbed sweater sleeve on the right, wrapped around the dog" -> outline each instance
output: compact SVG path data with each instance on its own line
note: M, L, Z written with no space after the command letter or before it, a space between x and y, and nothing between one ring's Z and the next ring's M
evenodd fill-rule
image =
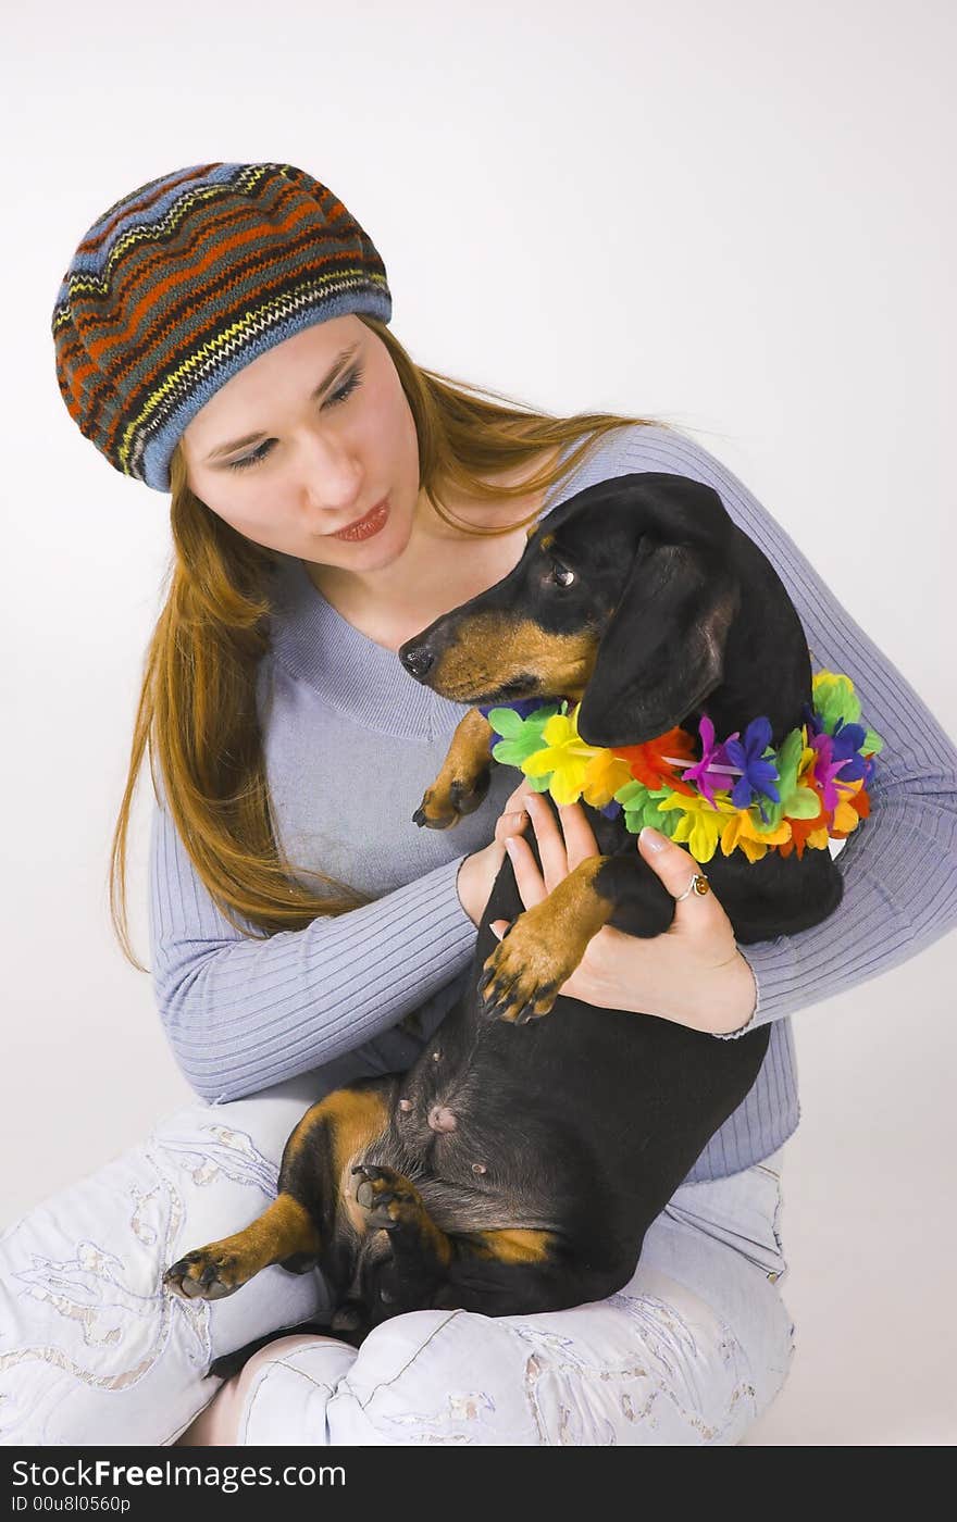
M714 487L764 551L802 619L814 671L846 673L863 718L884 740L870 816L837 855L844 895L820 925L741 947L758 986L750 1020L781 1020L898 966L957 925L957 749L917 693L850 618L797 545L700 444L634 428L627 470L666 470Z

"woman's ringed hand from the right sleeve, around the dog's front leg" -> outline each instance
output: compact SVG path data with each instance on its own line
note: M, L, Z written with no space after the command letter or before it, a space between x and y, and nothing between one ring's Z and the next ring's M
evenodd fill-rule
M511 826L508 852L522 903L531 909L580 861L599 852L581 804L558 807L560 829L549 805L523 781L508 799L507 810L522 807L533 822L543 871L539 871L520 829ZM660 849L654 849L656 842ZM636 846L676 898L698 871L691 852L656 829L644 831ZM501 939L508 921L496 919L491 928ZM712 1035L742 1029L758 1001L752 970L738 951L730 919L714 889L704 896L691 893L676 904L669 928L648 941L606 925L592 938L560 992L586 1005L633 1009Z

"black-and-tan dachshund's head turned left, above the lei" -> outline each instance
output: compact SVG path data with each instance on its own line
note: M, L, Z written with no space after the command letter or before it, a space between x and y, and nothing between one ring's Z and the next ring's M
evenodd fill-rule
M487 592L408 639L399 658L456 703L581 700L593 746L672 729L723 677L739 604L721 498L636 472L561 502Z

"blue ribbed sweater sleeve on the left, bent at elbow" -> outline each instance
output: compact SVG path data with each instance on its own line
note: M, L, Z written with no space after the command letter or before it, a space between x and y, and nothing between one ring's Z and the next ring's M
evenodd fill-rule
M219 912L172 816L157 804L154 989L193 1090L222 1103L309 1071L383 1033L450 983L475 948L455 886L463 860L345 915L250 939Z

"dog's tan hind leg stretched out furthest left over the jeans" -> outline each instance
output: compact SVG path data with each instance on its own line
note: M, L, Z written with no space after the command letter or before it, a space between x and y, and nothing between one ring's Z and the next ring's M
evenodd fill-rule
M234 1236L186 1253L163 1283L186 1300L222 1300L271 1263L304 1274L332 1248L353 1160L388 1126L397 1079L338 1088L286 1142L277 1198Z

